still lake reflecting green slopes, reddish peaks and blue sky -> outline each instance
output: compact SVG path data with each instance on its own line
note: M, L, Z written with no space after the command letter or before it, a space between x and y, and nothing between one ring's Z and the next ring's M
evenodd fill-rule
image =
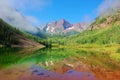
M1 48L0 80L99 80L99 67L119 69L108 60L86 50Z

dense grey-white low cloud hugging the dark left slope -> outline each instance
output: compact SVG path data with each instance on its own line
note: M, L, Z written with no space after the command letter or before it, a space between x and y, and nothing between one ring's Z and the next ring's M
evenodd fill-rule
M30 22L27 21L21 13L13 8L4 8L3 10L0 10L0 18L20 30L25 30L32 33L37 32L37 29L30 24Z

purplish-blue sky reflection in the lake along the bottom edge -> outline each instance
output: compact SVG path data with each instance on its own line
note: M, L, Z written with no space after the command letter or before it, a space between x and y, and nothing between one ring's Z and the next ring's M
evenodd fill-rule
M20 80L97 80L92 73L69 70L64 74L45 70L40 66L33 66L23 75Z

